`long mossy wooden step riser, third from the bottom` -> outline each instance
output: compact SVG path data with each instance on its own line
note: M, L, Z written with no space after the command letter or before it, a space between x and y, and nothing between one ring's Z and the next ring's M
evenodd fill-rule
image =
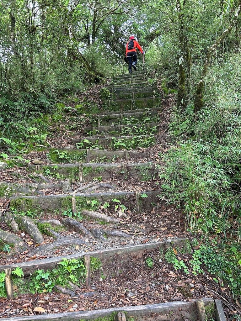
M137 212L151 211L159 202L155 192L117 192L117 193L81 193L70 195L43 195L10 197L10 208L17 211L34 211L35 213L48 213L58 215L68 209L74 212L83 210L97 211L105 202L117 199L127 209ZM145 195L143 197L142 195ZM148 198L148 202L147 202ZM92 202L93 201L93 202ZM92 205L91 205L92 204ZM94 205L93 205L94 204Z

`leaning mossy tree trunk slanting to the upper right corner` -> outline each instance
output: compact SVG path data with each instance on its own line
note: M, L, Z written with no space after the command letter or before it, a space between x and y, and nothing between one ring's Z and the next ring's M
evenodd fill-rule
M197 113L203 108L203 91L204 91L204 78L207 75L208 67L210 65L210 60L212 54L215 52L216 48L224 41L227 35L231 32L233 26L237 22L237 18L241 11L241 0L238 1L238 7L233 20L230 22L228 28L224 30L221 36L216 40L216 42L208 49L206 54L206 59L203 65L203 70L201 74L201 79L196 86L195 100L194 100L194 112Z

